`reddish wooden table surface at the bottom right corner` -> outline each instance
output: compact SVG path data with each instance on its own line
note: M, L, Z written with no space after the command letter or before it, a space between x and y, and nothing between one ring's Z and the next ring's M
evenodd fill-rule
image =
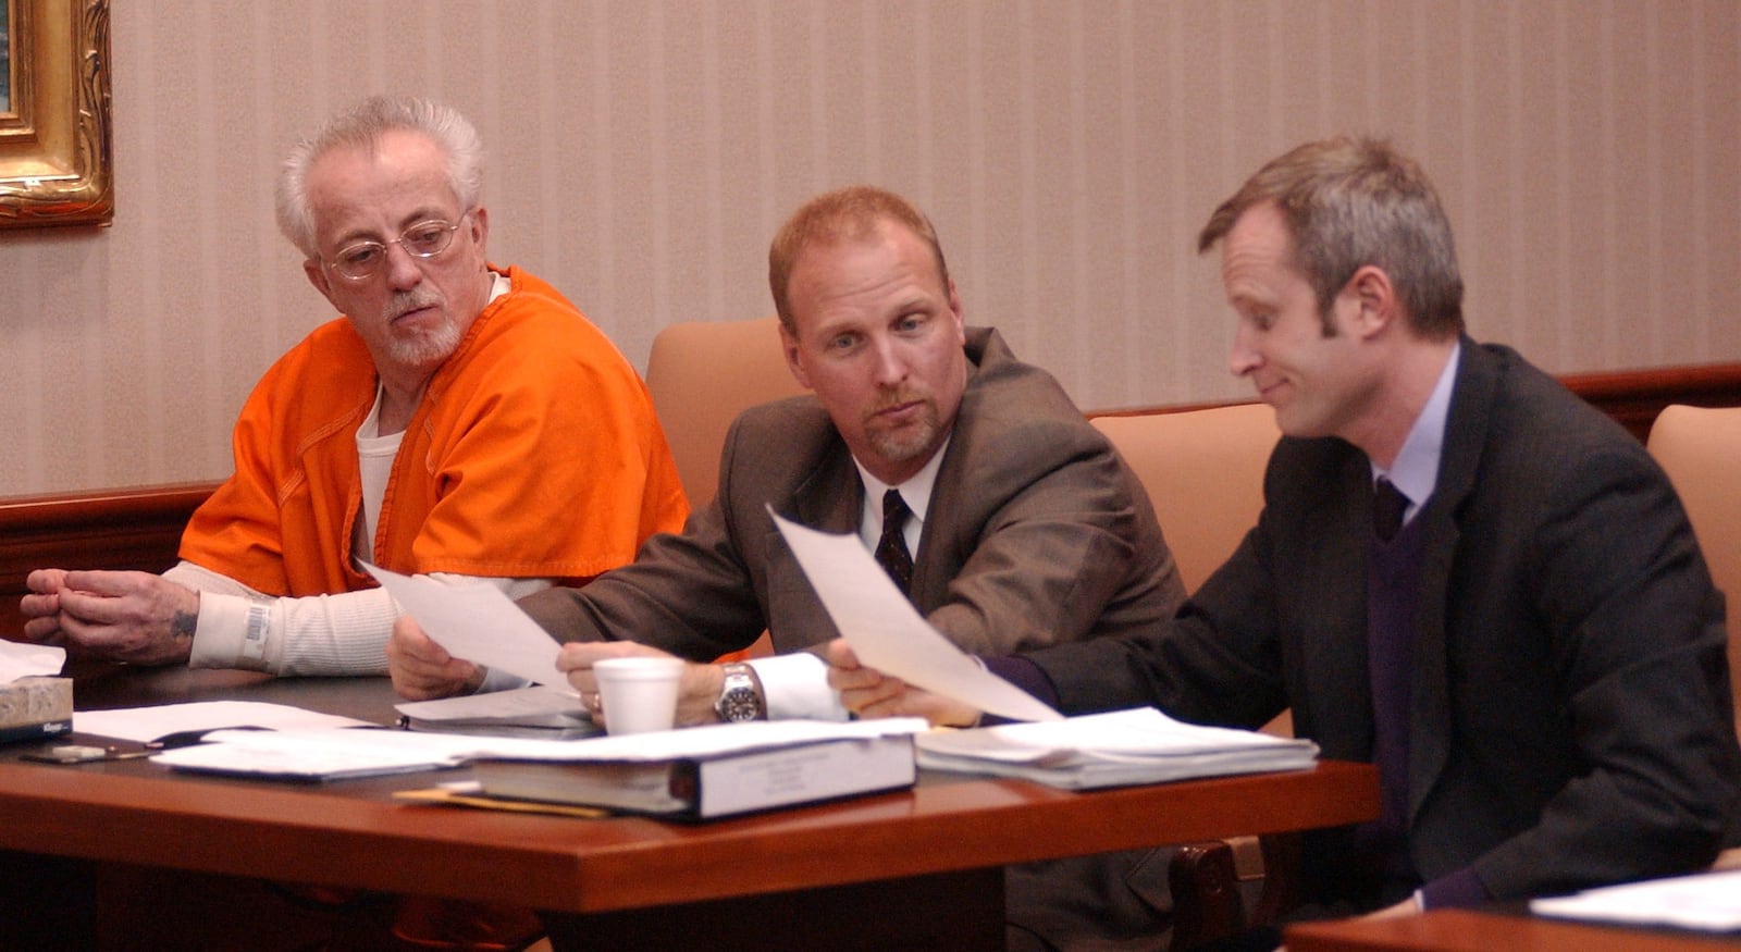
M1544 919L1522 910L1445 908L1402 919L1341 919L1287 929L1288 952L1720 952L1738 933L1692 933Z

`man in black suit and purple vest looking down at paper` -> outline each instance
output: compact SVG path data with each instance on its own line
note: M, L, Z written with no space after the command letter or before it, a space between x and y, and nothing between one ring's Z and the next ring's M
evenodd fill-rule
M1276 158L1217 244L1231 369L1285 435L1257 527L1170 623L991 667L1067 712L1292 708L1375 762L1382 816L1304 851L1328 912L1708 865L1741 823L1724 600L1644 447L1464 336L1450 225L1384 143ZM829 653L855 712L977 717Z

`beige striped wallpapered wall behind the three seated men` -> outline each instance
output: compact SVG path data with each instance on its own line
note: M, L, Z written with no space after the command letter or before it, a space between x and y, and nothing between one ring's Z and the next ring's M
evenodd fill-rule
M111 42L115 226L0 231L0 494L228 473L247 388L331 317L272 167L376 91L477 120L493 258L637 365L672 320L770 313L785 212L876 181L1081 406L1241 397L1194 231L1335 131L1435 174L1478 338L1741 359L1732 0L115 0Z

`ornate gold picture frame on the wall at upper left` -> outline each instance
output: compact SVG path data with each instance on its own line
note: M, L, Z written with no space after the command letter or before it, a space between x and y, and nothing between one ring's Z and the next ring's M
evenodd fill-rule
M108 225L108 0L0 0L0 228Z

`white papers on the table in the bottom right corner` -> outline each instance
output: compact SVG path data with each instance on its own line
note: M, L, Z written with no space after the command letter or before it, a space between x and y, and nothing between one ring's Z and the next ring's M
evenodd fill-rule
M1529 910L1562 919L1741 931L1741 870L1703 872L1532 900Z

